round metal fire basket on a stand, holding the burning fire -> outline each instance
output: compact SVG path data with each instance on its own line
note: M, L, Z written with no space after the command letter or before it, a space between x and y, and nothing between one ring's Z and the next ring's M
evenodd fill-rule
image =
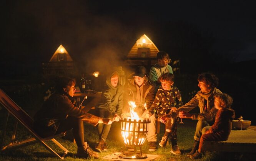
M148 123L147 120L127 120L126 118L120 118L121 122L121 134L125 143L125 147L133 147L133 153L124 153L120 155L124 159L145 159L147 156L142 154L141 146L146 140L148 135ZM136 148L140 148L140 153L136 153Z

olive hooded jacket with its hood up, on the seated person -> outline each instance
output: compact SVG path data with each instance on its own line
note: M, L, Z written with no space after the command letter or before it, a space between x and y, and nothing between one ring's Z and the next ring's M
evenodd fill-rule
M118 73L118 72L116 72ZM113 87L110 82L111 76L114 72L108 74L106 78L106 89L101 95L101 102L96 108L104 108L108 110L112 115L118 114L121 116L121 110L123 108L123 86L120 85L120 77L118 75L118 84Z

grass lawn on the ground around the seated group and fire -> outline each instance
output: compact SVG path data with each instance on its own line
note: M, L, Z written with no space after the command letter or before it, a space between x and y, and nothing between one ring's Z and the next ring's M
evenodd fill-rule
M3 120L3 110L0 111L0 119ZM10 141L11 132L12 132L12 123L13 118L11 117L8 122L7 127L7 134L5 136L4 145L7 145ZM194 130L196 126L196 122L193 120L183 119L184 124L178 124L178 145L180 146L181 155L173 155L170 153L171 145L166 146L166 148L159 147L156 151L150 152L148 151L148 145L147 142L142 147L143 153L146 154L156 154L159 155L158 158L155 160L191 160L189 157L186 156L186 153L188 153L191 150L191 147L193 145L193 135ZM0 123L1 127L3 126L3 121ZM96 131L96 127L88 125L85 123L85 141L88 142L88 144L91 146L91 148L94 148L97 141L98 141L98 134ZM161 137L163 136L164 132L164 126L161 124L160 134L158 134L158 141L161 140ZM2 128L0 131L0 136L2 136ZM21 125L18 125L17 129L17 135L16 139L21 141L23 139L29 138L30 135L27 133L27 130L23 128ZM57 138L57 140L68 149L69 153L65 156L65 160L82 160L77 159L75 157L76 154L76 145L73 144L71 141L65 140L63 138ZM49 142L50 143L50 142ZM50 144L52 145L52 144ZM122 150L122 147L124 146L123 139L121 138L120 133L120 122L114 122L111 126L111 130L108 136L107 140L108 145L108 151L100 153L100 158L112 154L115 152L119 152ZM57 148L56 146L53 146L53 149L57 151L57 153L61 153L62 150ZM243 157L244 158L244 157ZM243 160L242 158L242 160ZM250 157L249 157L250 158ZM203 158L198 160L234 160L234 154L233 153L216 153L216 152L206 152L203 156ZM5 153L0 154L0 160L1 161L28 161L28 160L58 160L55 156L53 156L49 151L47 151L42 145L40 144L34 144L30 146L26 146L23 148L18 148L13 151L7 151ZM103 160L103 159L88 159L88 160ZM248 160L245 159L245 160ZM250 159L249 159L250 160Z

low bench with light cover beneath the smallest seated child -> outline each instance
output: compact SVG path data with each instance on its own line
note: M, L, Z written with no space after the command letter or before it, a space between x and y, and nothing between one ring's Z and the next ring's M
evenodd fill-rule
M205 141L203 150L256 153L256 126L249 126L246 130L231 130L227 141Z

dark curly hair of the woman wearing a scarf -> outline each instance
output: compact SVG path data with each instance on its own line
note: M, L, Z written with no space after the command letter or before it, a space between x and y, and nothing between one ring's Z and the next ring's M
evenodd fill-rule
M198 82L204 82L206 85L209 85L211 89L219 85L219 79L214 74L209 72L203 72L198 75Z

